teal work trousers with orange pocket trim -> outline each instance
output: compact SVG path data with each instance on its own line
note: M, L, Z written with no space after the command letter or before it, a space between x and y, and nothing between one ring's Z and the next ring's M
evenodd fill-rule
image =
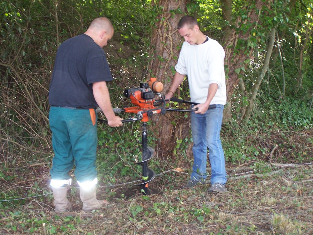
M70 179L69 170L74 165L78 181L96 178L97 118L95 109L50 108L49 123L54 150L50 170L52 179Z

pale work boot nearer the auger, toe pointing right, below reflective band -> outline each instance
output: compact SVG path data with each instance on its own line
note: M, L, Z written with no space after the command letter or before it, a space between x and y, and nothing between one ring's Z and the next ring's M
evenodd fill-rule
M83 211L92 211L109 204L106 200L97 200L95 185L89 189L80 186L80 199L83 202Z

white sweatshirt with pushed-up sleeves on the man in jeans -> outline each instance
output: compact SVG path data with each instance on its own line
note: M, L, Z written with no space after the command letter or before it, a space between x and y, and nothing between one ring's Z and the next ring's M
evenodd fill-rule
M192 102L204 103L209 85L216 83L218 90L210 104L226 104L224 57L223 47L209 37L203 44L183 43L175 70L187 75Z

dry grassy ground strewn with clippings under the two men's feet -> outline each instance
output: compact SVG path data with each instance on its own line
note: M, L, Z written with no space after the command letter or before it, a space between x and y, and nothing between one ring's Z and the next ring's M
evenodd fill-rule
M209 185L183 189L188 175L168 172L151 183L159 195L125 199L131 185L99 187L98 197L112 204L91 213L80 211L76 190L70 195L74 211L63 214L54 213L51 194L1 202L0 234L311 234L312 175L312 165L301 165L229 180L228 193L208 194ZM36 187L49 192L44 184Z

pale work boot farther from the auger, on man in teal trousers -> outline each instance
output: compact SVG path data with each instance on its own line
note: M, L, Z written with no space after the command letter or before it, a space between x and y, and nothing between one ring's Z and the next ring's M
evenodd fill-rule
M63 186L58 188L52 187L55 212L67 212L72 209L72 204L67 199L68 190L69 186Z

